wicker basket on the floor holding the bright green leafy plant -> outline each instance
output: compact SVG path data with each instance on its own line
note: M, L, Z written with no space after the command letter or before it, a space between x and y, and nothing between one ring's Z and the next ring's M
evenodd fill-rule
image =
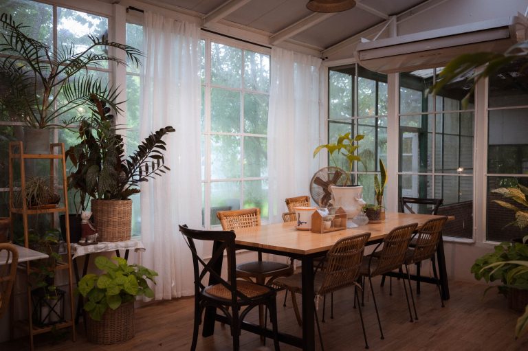
M85 313L87 338L91 343L122 343L134 337L134 302L122 304L117 309L108 308L100 321Z

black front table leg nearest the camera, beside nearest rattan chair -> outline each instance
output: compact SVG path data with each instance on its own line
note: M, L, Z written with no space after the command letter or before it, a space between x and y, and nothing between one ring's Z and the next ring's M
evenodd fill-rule
M301 260L303 281L303 350L315 350L316 333L314 329L314 258L309 256Z

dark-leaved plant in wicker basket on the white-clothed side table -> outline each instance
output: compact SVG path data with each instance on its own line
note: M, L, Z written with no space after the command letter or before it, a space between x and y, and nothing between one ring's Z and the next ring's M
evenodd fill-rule
M106 103L91 96L91 117L80 119L80 143L67 150L74 172L69 187L78 190L81 208L91 199L91 212L100 241L122 241L131 237L132 201L139 184L168 170L163 151L165 135L175 131L160 128L142 141L129 157L124 155L123 137L115 133L113 115Z

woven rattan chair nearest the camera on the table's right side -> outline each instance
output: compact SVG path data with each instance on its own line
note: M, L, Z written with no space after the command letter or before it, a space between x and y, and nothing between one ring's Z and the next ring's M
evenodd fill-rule
M370 233L365 233L341 238L331 247L325 256L325 259L322 260L320 264L318 264L318 267L316 267L314 272L314 293L316 295L316 300L342 288L354 286L354 302L355 300L358 300L358 311L360 313L361 326L363 328L365 348L369 348L369 343L366 340L363 315L361 312L361 307L359 306L359 295L357 288L360 286L357 280L360 266L362 264L365 244L367 240L369 240L370 236ZM301 274L302 273L296 273L294 275L290 275L289 277L277 278L275 280L275 284L287 288L288 291L292 292L292 296L294 296L295 293L302 293L303 283ZM315 303L316 302L314 302L314 304ZM325 350L322 343L322 335L319 326L317 310L315 317L317 322L317 330L319 332L321 349Z

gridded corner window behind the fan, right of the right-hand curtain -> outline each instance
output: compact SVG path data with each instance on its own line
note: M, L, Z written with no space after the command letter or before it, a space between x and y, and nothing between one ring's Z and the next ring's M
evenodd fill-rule
M354 166L351 177L353 183L363 185L367 203L375 203L374 174L379 172L378 159L386 164L386 115L386 75L359 65L329 69L328 140L335 142L338 135L349 132L365 136L358 149L362 161ZM336 157L338 164L331 166L343 168L342 161L343 158Z

